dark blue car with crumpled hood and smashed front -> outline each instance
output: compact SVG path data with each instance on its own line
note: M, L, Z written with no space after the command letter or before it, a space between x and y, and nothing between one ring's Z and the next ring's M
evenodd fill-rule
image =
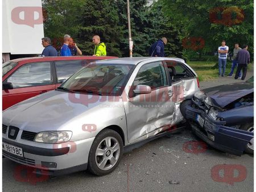
M198 91L185 106L192 130L214 148L233 155L254 152L253 77Z

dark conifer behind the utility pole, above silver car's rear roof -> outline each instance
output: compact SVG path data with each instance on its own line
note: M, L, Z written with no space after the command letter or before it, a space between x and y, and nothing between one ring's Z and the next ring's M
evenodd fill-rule
M119 25L125 26L124 36L121 40L121 50L129 55L129 42L127 30L126 0L117 1L119 9ZM170 23L170 19L162 11L162 3L155 2L148 7L146 0L130 1L131 35L134 41L133 56L148 56L148 49L160 37L167 37L165 46L166 56L181 57L181 44L178 31Z

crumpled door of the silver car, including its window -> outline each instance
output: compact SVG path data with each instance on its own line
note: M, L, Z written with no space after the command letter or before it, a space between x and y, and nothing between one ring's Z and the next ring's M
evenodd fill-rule
M163 126L171 123L174 105L161 61L143 64L141 68L138 66L129 82L128 94L125 96L127 102L123 103L128 141L133 143L163 131ZM150 86L151 93L135 94L138 85Z

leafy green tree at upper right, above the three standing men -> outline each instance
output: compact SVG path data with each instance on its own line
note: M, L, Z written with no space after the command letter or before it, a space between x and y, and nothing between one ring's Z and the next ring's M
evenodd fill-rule
M166 15L171 19L172 24L179 28L183 37L203 37L205 47L203 52L217 50L221 40L226 40L230 51L234 43L240 45L248 44L249 52L253 53L253 1L251 0L162 0ZM216 7L229 7L231 10L243 10L240 22L225 24L227 20L236 21L236 11L232 12L232 18L225 16L224 12L218 12L218 19L224 24L214 23L210 18L210 12ZM239 11L238 11L239 12ZM235 14L235 15L234 15ZM253 54L251 54L253 55Z

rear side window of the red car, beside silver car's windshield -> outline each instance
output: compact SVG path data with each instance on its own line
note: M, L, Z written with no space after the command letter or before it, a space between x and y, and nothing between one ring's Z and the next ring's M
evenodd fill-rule
M86 60L55 61L57 83L67 80L72 74L78 72L87 64Z

